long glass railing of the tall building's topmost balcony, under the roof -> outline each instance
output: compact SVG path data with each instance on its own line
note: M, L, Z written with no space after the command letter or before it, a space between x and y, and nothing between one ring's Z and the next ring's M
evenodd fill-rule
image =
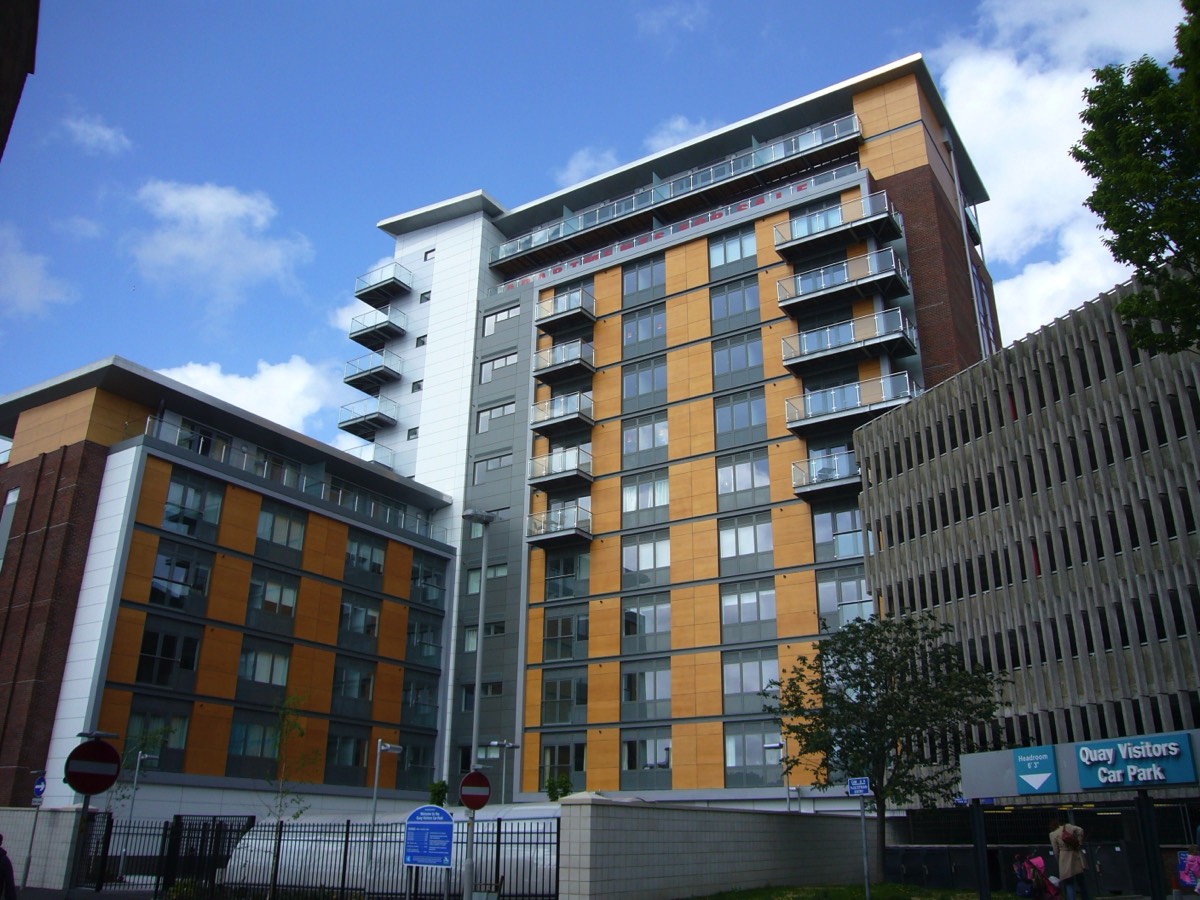
M575 216L568 216L528 234L522 234L520 238L505 241L492 250L490 254L491 260L496 263L500 259L524 253L560 238L622 218L630 212L649 209L650 206L683 197L684 194L709 187L737 175L744 175L755 169L770 166L788 156L809 152L823 144L842 140L858 133L857 115L846 115L832 122L817 125L798 134L792 134L760 148L745 150L737 156L722 160L713 166L707 166L702 169L660 181L656 185L643 187L628 197L622 197L618 200L605 203L595 209L580 212Z

